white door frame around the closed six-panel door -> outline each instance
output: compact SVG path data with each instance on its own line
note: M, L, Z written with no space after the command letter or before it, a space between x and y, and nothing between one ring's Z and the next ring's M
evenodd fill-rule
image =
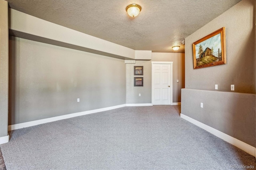
M172 105L172 61L151 61L151 103L153 105L153 93L154 93L154 82L153 82L153 75L154 75L154 71L153 71L153 65L154 64L170 64L170 105Z

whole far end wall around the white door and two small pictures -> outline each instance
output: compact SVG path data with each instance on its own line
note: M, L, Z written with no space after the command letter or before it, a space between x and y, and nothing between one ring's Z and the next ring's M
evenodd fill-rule
M152 103L152 71L151 61L173 62L173 103L180 102L181 89L185 87L185 58L184 53L152 53L150 61L136 61L135 64L126 64L126 103ZM143 66L143 87L134 87L134 66ZM177 80L179 82L177 83ZM139 97L139 93L141 96Z

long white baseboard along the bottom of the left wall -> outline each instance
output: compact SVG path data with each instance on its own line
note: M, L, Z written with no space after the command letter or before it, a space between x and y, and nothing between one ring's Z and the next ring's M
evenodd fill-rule
M105 107L105 108L101 108L101 109L94 109L94 110L90 110L90 111L71 113L71 114L68 114L68 115L62 115L62 116L57 116L57 117L50 117L50 118L46 118L46 119L40 119L40 120L30 121L30 122L25 122L25 123L18 123L18 124L15 124L15 125L9 125L8 126L8 131L19 129L19 128L32 127L32 126L35 126L35 125L40 125L40 124L43 124L43 123L59 121L59 120L62 120L62 119L68 119L68 118L72 118L72 117L88 115L88 114L91 114L91 113L108 111L108 110L111 110L111 109L117 109L117 108L125 107L125 106L126 106L126 104L123 104L123 105L117 105L117 106L112 106L112 107Z

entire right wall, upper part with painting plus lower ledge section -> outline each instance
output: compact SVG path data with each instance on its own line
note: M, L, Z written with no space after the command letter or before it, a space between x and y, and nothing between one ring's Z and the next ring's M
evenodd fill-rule
M185 39L186 89L181 105L182 114L252 146L256 146L254 8L254 0L242 0ZM222 27L226 27L227 64L193 69L192 43ZM234 92L241 93L231 92L231 84Z

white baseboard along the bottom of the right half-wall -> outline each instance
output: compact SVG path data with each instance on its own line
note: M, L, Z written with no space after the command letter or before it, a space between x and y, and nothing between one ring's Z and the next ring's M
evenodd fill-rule
M199 121L196 121L195 119L192 119L186 115L183 115L182 113L180 113L180 117L193 123L194 125L210 132L211 134L214 134L215 136L225 140L226 142L244 150L245 152L247 152L248 154L252 155L252 156L256 156L256 148L245 143L245 142L242 142L241 140L238 140L232 136L229 136L228 134L225 134L219 130L216 130L215 128L212 128L212 127L209 127L208 125L205 125Z

